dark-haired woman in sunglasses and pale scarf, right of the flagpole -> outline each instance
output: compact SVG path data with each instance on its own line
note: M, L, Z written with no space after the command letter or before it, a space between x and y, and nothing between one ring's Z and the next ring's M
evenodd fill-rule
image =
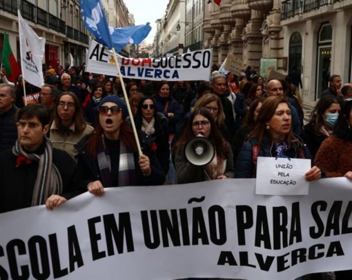
M165 174L169 170L169 138L166 133L167 119L155 110L152 97L144 96L139 101L135 116L136 128L144 132L155 148L156 155Z

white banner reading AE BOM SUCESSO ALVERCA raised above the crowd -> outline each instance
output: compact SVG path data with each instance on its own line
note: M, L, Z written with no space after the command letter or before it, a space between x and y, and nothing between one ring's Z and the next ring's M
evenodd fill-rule
M212 49L187 52L168 58L124 58L118 55L122 76L145 80L209 80ZM91 40L87 72L117 75L112 51Z

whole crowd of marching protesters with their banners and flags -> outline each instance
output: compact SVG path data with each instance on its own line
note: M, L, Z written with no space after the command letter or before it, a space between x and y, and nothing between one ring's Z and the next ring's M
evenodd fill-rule
M277 58L128 57L152 27L103 4L82 65L20 5L17 60L4 31L0 279L351 278L352 83L308 114Z

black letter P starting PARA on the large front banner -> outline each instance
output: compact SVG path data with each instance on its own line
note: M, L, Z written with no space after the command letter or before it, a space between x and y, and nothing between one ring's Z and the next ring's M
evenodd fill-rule
M253 227L253 210L247 205L236 206L238 245L245 245L244 231Z

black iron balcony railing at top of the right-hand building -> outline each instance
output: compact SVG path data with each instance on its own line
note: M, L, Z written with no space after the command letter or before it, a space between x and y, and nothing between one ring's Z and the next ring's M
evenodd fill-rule
M285 0L281 3L281 19L317 10L320 7L333 5L341 0Z

